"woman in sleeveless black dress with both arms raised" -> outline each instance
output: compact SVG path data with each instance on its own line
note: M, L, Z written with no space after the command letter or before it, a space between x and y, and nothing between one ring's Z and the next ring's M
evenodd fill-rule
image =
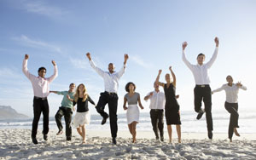
M162 86L166 94L166 123L169 134L169 141L172 143L172 124L176 125L178 143L181 143L181 122L180 122L180 112L179 105L177 103L176 91L176 77L172 71L172 66L169 67L173 80L171 81L170 74L166 74L166 83L160 83L159 78L162 70L159 70L158 76L155 82Z

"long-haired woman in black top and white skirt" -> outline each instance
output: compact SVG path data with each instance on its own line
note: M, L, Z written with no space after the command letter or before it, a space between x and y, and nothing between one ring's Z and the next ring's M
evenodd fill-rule
M74 100L70 99L69 96L67 96L67 98L73 101L74 106L77 104L77 112L73 118L73 126L77 128L78 133L82 136L82 143L85 143L85 124L90 124L88 101L90 101L90 103L94 106L95 103L90 99L90 96L87 94L83 83L79 84L79 87L74 94Z

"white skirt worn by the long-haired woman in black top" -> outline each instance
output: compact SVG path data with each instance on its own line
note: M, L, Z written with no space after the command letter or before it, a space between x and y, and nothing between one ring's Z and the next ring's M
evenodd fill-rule
M90 124L90 111L76 112L76 115L73 117L73 127L79 128L79 126L84 124Z

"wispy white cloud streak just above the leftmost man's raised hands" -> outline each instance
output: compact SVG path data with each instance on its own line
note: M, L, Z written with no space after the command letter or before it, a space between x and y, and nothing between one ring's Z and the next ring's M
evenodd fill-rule
M13 40L26 45L28 47L32 47L32 48L40 48L40 49L49 49L51 51L55 51L57 53L61 53L61 48L49 43L45 43L42 41L38 41L38 40L33 40L29 37L26 37L25 35L21 35L20 37L13 37Z

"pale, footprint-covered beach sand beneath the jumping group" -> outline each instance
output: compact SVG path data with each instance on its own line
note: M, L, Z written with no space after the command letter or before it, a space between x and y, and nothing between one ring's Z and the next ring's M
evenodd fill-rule
M173 129L174 130L174 129ZM232 143L227 134L183 133L177 143L176 131L172 144L154 140L153 131L137 130L137 143L131 143L127 131L119 131L117 145L111 143L110 131L87 130L86 144L73 129L71 141L65 133L49 130L49 140L43 140L38 129L38 145L32 144L30 129L0 129L0 159L256 159L256 134L241 134Z

